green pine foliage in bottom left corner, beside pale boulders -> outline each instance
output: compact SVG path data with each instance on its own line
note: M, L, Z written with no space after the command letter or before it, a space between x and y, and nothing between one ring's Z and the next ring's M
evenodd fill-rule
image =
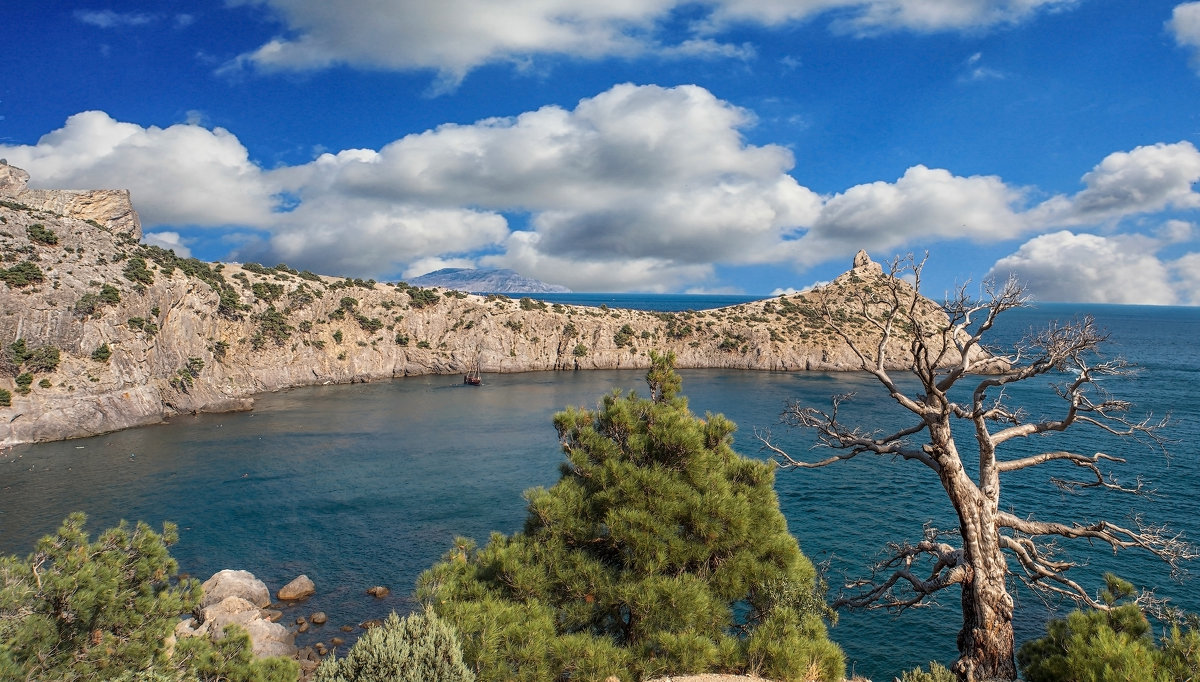
M84 522L72 514L25 560L0 556L0 680L296 680L295 662L252 659L244 630L218 644L185 638L172 652L179 615L200 599L167 549L175 526L122 521L92 542Z

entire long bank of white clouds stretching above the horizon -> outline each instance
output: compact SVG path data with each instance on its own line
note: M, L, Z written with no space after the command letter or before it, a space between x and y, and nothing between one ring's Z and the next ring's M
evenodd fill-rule
M1043 295L1192 300L1183 265L1156 256L1194 240L1192 222L1164 215L1150 228L1141 217L1134 227L1152 237L1115 234L1130 216L1200 208L1200 152L1187 142L1111 154L1078 193L1031 207L1031 189L925 166L818 196L790 174L790 150L745 140L752 113L698 86L616 85L574 108L448 124L274 169L229 131L188 120L144 127L84 112L35 145L0 145L0 157L40 187L131 189L148 241L176 252L199 249L197 228L235 228L233 258L330 274L482 264L577 291L671 292L720 287L719 265L1027 240L997 268L1021 270ZM1087 227L1110 235L1079 234ZM1051 274L1067 264L1084 265L1060 287L1068 280ZM1134 271L1136 287L1122 279Z

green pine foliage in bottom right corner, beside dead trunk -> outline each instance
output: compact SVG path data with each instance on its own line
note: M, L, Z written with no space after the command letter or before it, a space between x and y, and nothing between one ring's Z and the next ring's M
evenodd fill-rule
M1186 682L1200 678L1200 633L1175 624L1154 641L1133 585L1105 576L1108 610L1076 610L1046 624L1046 636L1016 653L1028 682ZM1124 603L1121 603L1126 600Z

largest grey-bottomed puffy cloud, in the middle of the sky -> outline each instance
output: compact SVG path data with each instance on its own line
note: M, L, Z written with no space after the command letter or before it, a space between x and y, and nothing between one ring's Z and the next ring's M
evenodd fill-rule
M648 273L679 282L714 262L775 259L788 232L815 219L821 199L787 174L791 152L746 144L750 122L702 88L625 84L574 110L444 125L272 178L305 204L353 197L528 213L535 239L514 235L502 264L566 286L620 273L625 289L650 282ZM654 286L672 286L662 281Z

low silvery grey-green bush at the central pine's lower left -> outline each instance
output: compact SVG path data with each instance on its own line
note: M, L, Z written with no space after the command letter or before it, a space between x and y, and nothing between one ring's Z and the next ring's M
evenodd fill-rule
M362 635L346 658L330 657L313 682L474 682L458 636L431 610L395 612Z

